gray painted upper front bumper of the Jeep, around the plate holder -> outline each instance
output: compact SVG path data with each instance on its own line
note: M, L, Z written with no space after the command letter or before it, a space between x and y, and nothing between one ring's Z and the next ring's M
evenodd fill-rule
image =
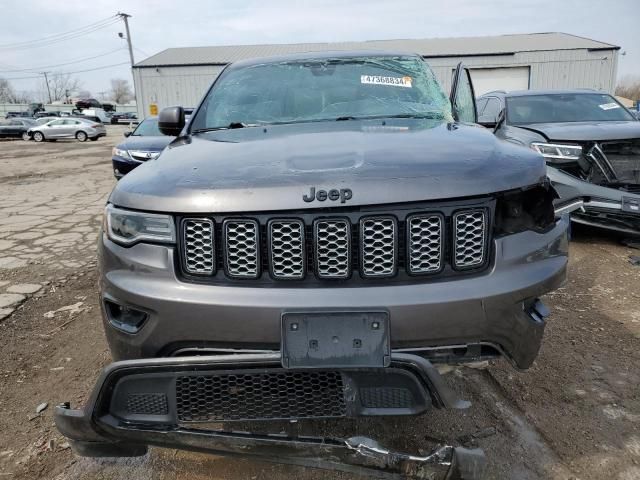
M104 301L146 312L137 333L103 318L114 359L171 356L184 348L279 351L285 312L386 311L394 351L489 345L521 369L538 354L544 315L536 299L565 281L568 216L546 233L494 240L485 274L408 285L262 288L181 281L175 249L121 247L101 237Z

